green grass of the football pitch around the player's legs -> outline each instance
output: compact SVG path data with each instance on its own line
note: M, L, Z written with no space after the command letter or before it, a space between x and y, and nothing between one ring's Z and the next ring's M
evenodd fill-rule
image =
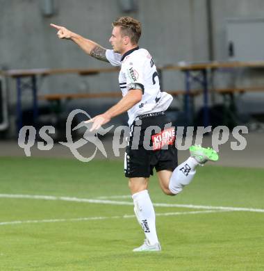
M0 193L94 199L129 195L122 162L0 158ZM197 170L177 197L163 195L156 177L153 202L264 208L264 170L213 167ZM113 199L132 202L131 199ZM161 208L157 213L199 211ZM0 270L264 270L264 213L223 212L158 216L162 252L135 254L144 235L133 206L0 197ZM104 220L70 221L79 217Z

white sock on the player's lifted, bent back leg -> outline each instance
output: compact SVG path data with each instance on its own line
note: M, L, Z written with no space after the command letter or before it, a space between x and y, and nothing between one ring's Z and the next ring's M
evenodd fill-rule
M170 177L169 189L176 195L187 186L195 176L195 168L199 163L193 157L189 157L185 162L178 165Z

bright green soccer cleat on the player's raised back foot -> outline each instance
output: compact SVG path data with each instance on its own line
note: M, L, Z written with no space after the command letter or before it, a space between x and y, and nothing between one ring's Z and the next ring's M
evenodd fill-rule
M203 148L201 145L192 145L190 147L190 156L195 158L195 160L204 164L207 161L217 161L219 159L217 152L212 148Z

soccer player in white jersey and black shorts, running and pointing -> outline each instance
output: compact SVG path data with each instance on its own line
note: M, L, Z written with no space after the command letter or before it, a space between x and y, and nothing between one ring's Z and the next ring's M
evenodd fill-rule
M154 207L147 190L154 167L163 192L166 195L178 195L192 181L196 167L208 160L217 161L217 153L213 149L192 146L190 157L178 165L175 131L168 123L165 113L173 98L160 91L154 60L146 49L138 47L141 35L138 20L120 17L113 22L109 40L113 49L105 49L63 26L51 26L58 30L58 38L72 40L90 56L121 67L119 86L122 99L88 122L92 122L90 131L93 131L113 117L128 112L131 134L126 147L124 171L129 178L135 215L146 237L143 245L133 251L160 251ZM158 129L152 131L153 126L158 126ZM146 147L146 140L151 149Z

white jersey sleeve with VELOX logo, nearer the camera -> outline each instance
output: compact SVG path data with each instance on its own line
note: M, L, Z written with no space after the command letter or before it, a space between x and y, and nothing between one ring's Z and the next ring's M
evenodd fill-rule
M144 67L145 61L135 58L126 61L124 72L126 76L126 86L129 90L135 89L137 88L137 85L139 85L144 93Z

